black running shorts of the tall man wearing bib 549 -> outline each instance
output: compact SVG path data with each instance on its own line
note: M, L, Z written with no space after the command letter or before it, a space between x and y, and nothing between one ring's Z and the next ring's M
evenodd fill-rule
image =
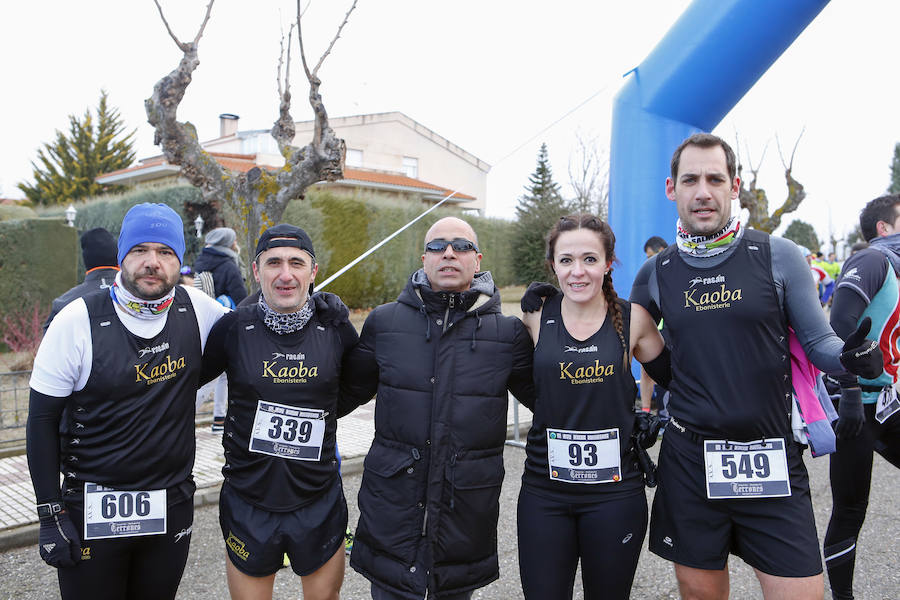
M787 444L791 495L709 500L702 442L666 427L659 487L650 518L650 551L680 565L724 569L728 555L780 577L822 572L809 478L796 443Z

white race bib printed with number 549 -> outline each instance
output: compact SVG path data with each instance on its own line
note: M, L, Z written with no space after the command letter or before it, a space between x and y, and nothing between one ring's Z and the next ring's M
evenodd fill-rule
M776 498L791 495L781 438L753 442L706 440L706 495L717 498Z

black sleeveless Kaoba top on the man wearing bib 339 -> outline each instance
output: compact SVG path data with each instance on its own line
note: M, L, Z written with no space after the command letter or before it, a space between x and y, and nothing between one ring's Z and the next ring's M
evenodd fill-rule
M298 332L276 334L259 318L256 305L239 308L222 321L222 326L229 327L222 473L247 502L273 512L293 510L315 500L337 477L334 448L344 354L341 336L336 327L322 325L316 316ZM320 458L296 460L250 450L260 401L324 411ZM275 426L283 442L297 441L305 434L291 429L295 425L288 419L276 421ZM275 426L268 429L275 431ZM290 455L289 444L280 447Z

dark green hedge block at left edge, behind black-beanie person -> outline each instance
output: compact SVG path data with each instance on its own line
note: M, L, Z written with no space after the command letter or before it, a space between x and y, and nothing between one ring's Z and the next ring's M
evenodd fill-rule
M78 232L59 219L0 223L0 311L48 308L78 282L80 254Z

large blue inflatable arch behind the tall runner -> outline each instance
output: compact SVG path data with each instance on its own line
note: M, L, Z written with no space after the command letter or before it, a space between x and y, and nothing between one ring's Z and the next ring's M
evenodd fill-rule
M712 131L828 0L695 0L616 95L610 141L609 220L615 285L627 297L644 242L675 238L665 195L681 141Z

